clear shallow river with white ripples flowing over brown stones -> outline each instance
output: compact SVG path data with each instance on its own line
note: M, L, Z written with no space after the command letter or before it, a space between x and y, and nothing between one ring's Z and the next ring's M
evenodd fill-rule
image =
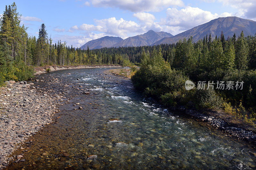
M57 121L22 152L26 161L7 169L255 169L251 145L154 104L130 81L102 73L106 69L37 77L44 77L37 83L41 87L67 98L54 116ZM60 84L50 83L52 78L61 79ZM91 95L82 93L85 88ZM74 110L79 106L83 109Z

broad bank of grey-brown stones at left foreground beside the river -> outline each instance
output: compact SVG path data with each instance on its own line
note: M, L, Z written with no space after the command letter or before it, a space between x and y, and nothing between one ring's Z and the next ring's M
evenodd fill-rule
M43 81L43 80L42 80ZM25 161L23 155L8 157L24 141L52 122L62 96L36 87L33 82L7 81L0 90L0 169L9 160ZM28 141L27 141L28 142ZM24 151L29 148L20 148Z

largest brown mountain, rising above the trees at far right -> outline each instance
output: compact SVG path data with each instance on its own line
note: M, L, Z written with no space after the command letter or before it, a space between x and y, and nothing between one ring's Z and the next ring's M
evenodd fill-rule
M234 32L236 33L236 38L238 38L242 31L244 32L245 36L254 35L256 33L256 22L238 17L217 18L205 24L198 25L188 31L177 34L173 37L160 39L153 45L172 44L183 38L188 39L190 36L192 36L194 42L196 42L199 39L204 39L206 34L209 36L210 33L212 35L212 39L214 39L216 35L218 37L220 36L221 31L223 31L226 39L228 36L233 37Z

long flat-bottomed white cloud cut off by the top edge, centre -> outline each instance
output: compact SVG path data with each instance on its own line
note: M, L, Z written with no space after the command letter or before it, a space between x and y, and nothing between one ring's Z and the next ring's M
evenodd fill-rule
M162 11L169 6L184 6L182 0L91 0L93 6L111 7L132 12Z

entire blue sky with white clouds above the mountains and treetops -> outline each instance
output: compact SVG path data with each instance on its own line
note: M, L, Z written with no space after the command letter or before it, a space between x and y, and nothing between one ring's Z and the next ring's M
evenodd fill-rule
M0 14L13 1L1 0ZM44 23L53 42L82 46L102 36L123 39L148 30L176 35L219 17L256 20L255 0L16 0L21 24L38 36Z

